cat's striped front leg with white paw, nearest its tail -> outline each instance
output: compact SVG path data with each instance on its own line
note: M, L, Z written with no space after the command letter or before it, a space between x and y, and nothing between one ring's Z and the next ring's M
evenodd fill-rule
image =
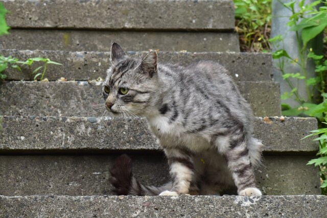
M160 196L178 196L189 193L194 177L193 158L185 151L176 148L165 149L168 158L173 187L160 193Z

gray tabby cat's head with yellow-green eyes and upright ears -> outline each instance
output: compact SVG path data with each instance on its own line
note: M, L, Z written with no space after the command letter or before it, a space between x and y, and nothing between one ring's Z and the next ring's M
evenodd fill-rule
M157 91L157 53L150 51L143 59L128 57L122 47L111 45L111 65L103 82L106 109L113 115L146 116L153 107ZM131 112L131 113L128 113Z

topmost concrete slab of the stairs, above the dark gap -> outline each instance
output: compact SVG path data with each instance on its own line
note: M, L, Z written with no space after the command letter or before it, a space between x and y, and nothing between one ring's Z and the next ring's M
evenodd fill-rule
M12 28L233 30L232 1L5 1Z

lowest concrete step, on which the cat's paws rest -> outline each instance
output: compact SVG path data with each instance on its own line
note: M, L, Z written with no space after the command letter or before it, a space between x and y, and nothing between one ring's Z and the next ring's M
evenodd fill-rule
M327 196L0 197L4 217L325 217Z

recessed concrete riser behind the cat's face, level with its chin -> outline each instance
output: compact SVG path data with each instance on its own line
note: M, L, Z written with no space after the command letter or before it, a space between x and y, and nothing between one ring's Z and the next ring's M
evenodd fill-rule
M279 84L239 82L256 116L281 114ZM1 115L101 116L101 82L0 82Z

